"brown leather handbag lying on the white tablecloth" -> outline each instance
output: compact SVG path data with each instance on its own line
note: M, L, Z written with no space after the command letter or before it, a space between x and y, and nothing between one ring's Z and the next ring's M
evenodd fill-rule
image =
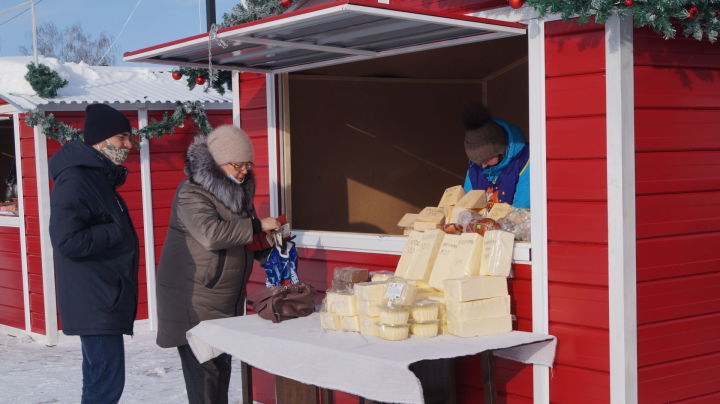
M253 301L253 311L273 323L305 317L315 311L315 289L303 282L265 288L248 298Z

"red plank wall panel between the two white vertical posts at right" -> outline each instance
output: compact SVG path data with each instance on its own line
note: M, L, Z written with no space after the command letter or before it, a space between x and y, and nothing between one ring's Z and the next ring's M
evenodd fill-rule
M557 21L545 33L550 400L609 402L605 30Z

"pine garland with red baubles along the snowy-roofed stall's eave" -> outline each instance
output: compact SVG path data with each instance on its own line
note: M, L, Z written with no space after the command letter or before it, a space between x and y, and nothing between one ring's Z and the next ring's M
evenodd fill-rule
M159 139L166 133L175 133L175 128L183 127L187 116L189 116L195 124L198 135L207 135L212 130L210 122L208 122L207 114L205 113L205 108L203 108L200 102L178 102L172 115L168 116L168 114L165 113L162 121L154 120L144 128L133 129L132 135L134 136L134 141L137 144L145 139ZM45 115L37 109L28 112L25 117L25 123L33 128L41 125L45 137L55 139L63 144L73 140L84 139L83 132L80 129L73 128L58 121L53 114Z

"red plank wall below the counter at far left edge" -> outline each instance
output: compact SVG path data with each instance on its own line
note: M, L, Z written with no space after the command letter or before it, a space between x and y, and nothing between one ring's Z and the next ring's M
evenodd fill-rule
M25 329L20 229L0 227L0 324Z

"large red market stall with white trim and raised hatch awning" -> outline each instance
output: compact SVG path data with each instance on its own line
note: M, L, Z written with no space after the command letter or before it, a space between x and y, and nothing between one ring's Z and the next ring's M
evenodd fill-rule
M243 71L239 122L267 138L269 212L299 230L303 278L325 290L335 267L397 267L407 238L394 225L461 183L451 115L458 100L479 100L523 126L531 149L531 240L516 243L513 327L558 338L552 378L498 360L500 394L568 403L717 396L717 46L665 41L618 18L575 24L496 7L463 3L437 15L427 11L443 8L433 2L341 1L218 33L230 45L212 47L213 65ZM458 25L469 31L449 28ZM212 40L125 58L204 67ZM689 126L691 138L682 135ZM668 206L691 209L678 219ZM263 287L264 274L254 280ZM478 361L458 364L460 402L481 394ZM254 382L255 399L273 402L271 379Z

